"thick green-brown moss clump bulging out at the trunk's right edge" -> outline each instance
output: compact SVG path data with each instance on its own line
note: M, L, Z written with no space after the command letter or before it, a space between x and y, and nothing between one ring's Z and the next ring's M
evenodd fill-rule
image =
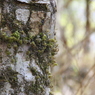
M37 36L32 37L30 43L31 55L38 58L38 65L41 64L48 67L54 65L54 55L57 52L57 45L55 39L49 39L45 33L39 33Z

